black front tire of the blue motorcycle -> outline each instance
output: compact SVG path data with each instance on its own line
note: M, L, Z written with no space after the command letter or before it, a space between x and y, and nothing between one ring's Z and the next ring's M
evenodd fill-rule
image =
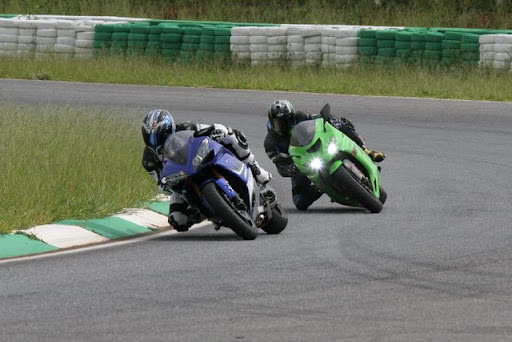
M222 220L223 226L231 228L244 240L254 240L258 237L258 227L242 218L231 202L220 193L215 183L210 182L204 186L203 196L216 216Z

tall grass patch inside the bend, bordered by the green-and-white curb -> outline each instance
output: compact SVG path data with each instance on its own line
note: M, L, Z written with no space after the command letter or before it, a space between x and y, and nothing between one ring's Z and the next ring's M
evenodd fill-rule
M155 195L140 113L0 105L0 233L101 217Z

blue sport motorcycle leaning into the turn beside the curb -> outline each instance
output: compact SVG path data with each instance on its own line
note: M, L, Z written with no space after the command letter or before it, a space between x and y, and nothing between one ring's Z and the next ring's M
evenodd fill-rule
M244 240L254 240L259 228L268 234L285 229L288 218L274 189L256 182L247 165L210 137L172 134L163 164L161 183L217 227L231 228Z

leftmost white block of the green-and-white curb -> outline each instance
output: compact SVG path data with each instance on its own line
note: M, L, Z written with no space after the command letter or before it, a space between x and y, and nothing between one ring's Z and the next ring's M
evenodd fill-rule
M39 240L57 248L69 248L108 241L106 237L78 226L45 224L23 231L35 235Z

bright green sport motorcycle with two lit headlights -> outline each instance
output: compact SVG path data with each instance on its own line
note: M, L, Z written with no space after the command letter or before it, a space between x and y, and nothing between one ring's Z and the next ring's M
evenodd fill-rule
M379 213L387 198L380 185L380 169L361 147L330 124L329 104L320 115L292 130L288 152L297 169L332 202Z

